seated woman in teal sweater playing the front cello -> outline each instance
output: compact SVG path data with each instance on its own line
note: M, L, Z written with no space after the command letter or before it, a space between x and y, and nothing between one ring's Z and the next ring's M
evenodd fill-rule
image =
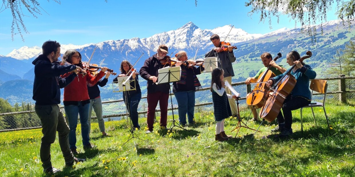
M296 110L304 107L311 103L311 91L308 89L310 85L310 79L315 79L317 73L312 70L312 68L305 64L304 62L298 61L301 58L300 54L296 51L291 51L286 55L286 62L292 66L296 65L291 70L290 74L296 79L296 85L292 90L291 94L286 98L283 103L282 111L277 116L278 126L273 129L274 132L281 132L280 137L288 137L292 135L292 110ZM280 78L282 78L288 71L271 78L266 82L266 86L271 86L276 83Z

